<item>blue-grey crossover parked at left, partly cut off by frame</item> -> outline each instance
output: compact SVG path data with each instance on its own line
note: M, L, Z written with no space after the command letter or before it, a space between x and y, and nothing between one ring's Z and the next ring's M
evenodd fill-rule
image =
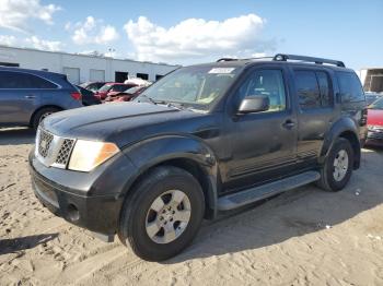
M0 67L2 127L37 129L48 115L81 106L81 94L65 74Z

